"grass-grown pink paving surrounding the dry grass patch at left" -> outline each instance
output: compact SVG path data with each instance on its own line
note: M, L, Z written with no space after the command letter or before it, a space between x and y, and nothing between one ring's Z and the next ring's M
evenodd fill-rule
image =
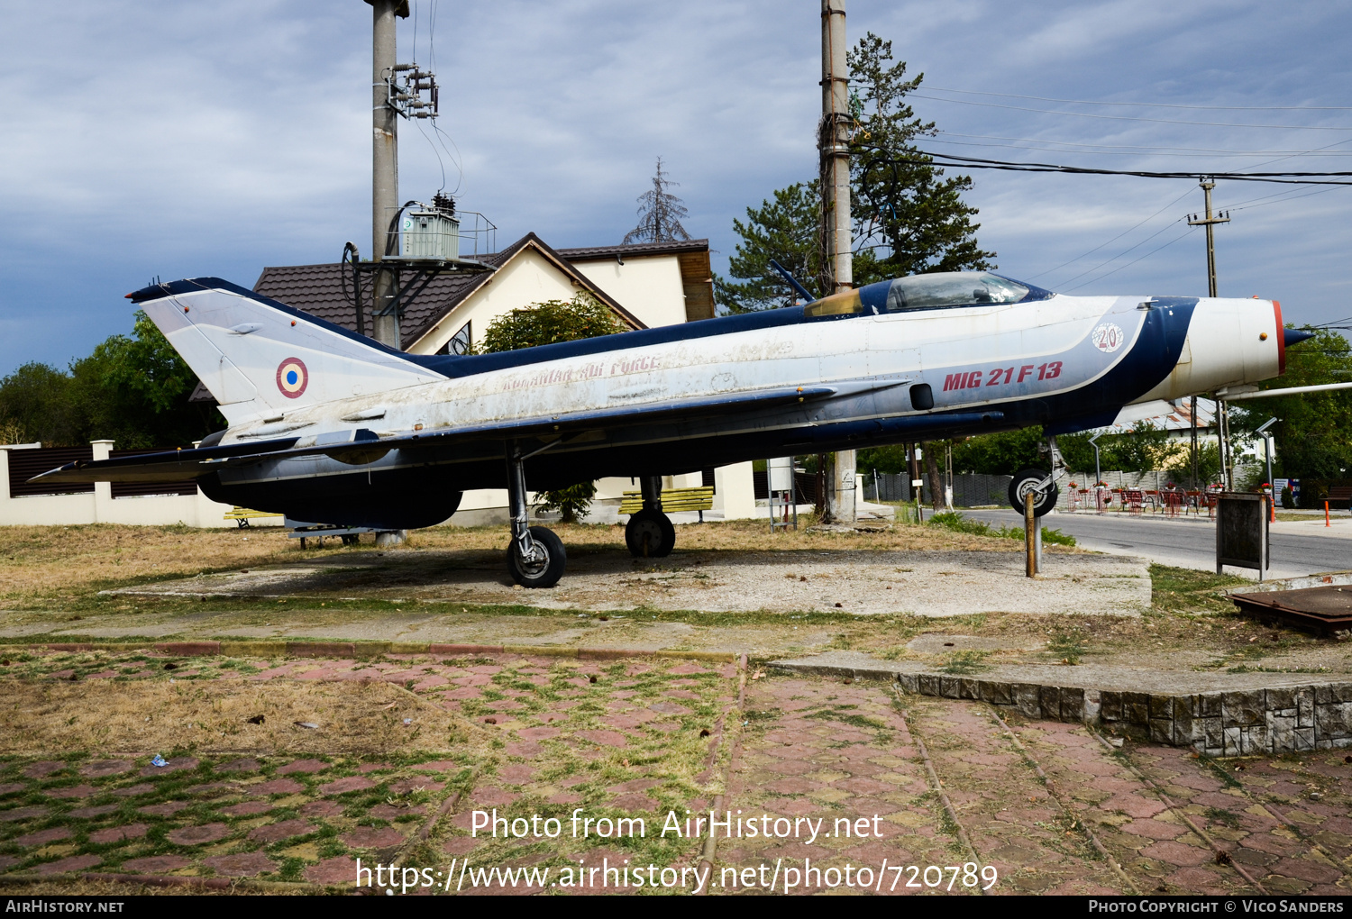
M596 835L473 839L476 808L646 816L704 805L726 774L717 747L735 701L731 664L395 658L174 660L31 654L11 670L43 680L387 681L465 715L485 737L462 749L356 757L131 750L0 762L0 872L260 877L350 883L356 858L437 866L553 865L633 843ZM95 660L91 660L95 658ZM132 660L138 658L138 660ZM164 670L173 662L173 670ZM107 676L104 676L107 674ZM204 687L210 689L210 685ZM164 715L164 714L158 714ZM150 765L164 753L168 765ZM172 755L178 753L178 755ZM721 788L721 787L719 787ZM442 819L445 816L445 819ZM566 835L566 834L565 834ZM652 835L652 834L649 834ZM658 865L698 854L688 841L638 846ZM445 868L445 865L442 865ZM0 878L3 880L3 878Z

